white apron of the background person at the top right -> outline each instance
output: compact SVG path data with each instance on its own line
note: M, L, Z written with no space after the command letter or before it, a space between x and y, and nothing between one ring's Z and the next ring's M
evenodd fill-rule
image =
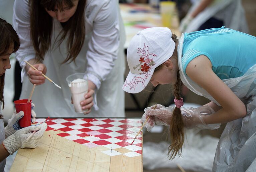
M201 0L194 1L188 15L196 9ZM224 26L227 28L249 33L241 0L215 0L189 23L184 32L190 33L197 31L198 28L211 17L222 20Z

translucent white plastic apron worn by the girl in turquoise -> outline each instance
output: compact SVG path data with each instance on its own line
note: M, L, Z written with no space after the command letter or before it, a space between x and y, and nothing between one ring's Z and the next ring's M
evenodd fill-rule
M194 93L220 105L206 90L193 82L183 72L182 47L184 34L179 39L178 64L181 81ZM241 77L223 82L245 103L247 115L228 122L218 143L212 171L256 171L256 64Z

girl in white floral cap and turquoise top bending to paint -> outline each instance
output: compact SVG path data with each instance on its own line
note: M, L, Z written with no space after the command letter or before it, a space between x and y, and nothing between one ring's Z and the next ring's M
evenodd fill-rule
M184 33L178 40L168 28L149 28L127 49L130 73L123 90L142 91L149 82L174 84L175 105L145 109L145 125L170 126L168 154L181 154L183 128L216 129L226 123L213 171L253 171L256 164L256 37L225 27ZM180 85L212 102L182 108Z

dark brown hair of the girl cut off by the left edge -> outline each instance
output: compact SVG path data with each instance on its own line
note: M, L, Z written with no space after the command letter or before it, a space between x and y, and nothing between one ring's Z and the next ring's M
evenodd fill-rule
M20 47L19 37L12 25L0 18L0 56L6 54L12 46L15 53ZM4 74L0 77L0 101L4 109ZM0 118L2 118L1 114Z

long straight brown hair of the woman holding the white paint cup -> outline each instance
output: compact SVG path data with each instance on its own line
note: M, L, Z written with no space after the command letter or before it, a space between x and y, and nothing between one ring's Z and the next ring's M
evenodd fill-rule
M36 52L36 58L44 59L44 55L51 45L52 17L45 9L51 11L63 10L74 6L73 0L30 0L30 34ZM57 36L58 46L67 39L67 57L62 62L71 63L79 54L85 40L84 10L86 0L79 0L74 15L62 25L62 31Z

